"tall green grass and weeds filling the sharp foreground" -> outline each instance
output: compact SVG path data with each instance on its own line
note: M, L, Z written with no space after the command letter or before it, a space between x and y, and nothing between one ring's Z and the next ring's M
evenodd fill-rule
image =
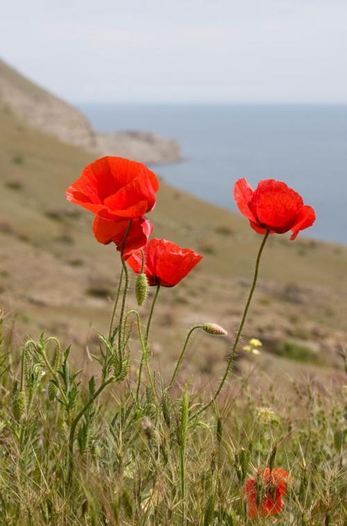
M136 371L119 374L103 338L90 349L101 361L93 375L75 373L55 339L21 350L5 328L1 342L1 524L344 525L341 387L296 382L284 398L269 378L260 392L232 375L237 391L197 416L206 393L188 385L171 395L158 373L156 399L147 378L137 399ZM283 511L250 519L246 480L269 465L291 476Z

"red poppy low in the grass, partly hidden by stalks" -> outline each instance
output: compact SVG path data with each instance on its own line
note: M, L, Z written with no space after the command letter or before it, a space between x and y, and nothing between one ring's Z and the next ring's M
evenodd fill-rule
M264 486L257 488L255 478L246 481L246 500L248 517L266 517L280 514L283 507L282 495L287 493L287 481L290 481L289 473L280 468L266 468L259 471L260 483ZM257 491L262 493L262 500L257 499ZM258 503L257 503L258 500Z

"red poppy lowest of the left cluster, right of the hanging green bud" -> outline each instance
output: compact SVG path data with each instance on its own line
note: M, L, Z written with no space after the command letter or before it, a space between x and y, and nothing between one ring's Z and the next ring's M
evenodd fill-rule
M174 287L182 280L203 256L190 248L180 246L166 239L151 239L144 247L144 273L149 285ZM126 260L133 271L139 273L142 253L136 251Z

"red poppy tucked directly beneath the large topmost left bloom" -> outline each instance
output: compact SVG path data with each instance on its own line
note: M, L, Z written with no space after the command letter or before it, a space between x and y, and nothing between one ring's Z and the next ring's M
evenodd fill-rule
M104 245L108 245L113 241L117 246L117 250L120 251L128 224L128 220L110 221L109 219L96 216L93 223L94 236L99 243L103 243ZM138 248L142 248L142 246L146 244L152 230L153 226L151 221L145 217L133 219L124 244L124 259L126 259L130 253L136 251Z

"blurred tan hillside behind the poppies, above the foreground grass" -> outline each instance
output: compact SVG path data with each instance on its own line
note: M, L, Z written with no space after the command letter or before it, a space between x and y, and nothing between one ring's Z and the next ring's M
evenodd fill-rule
M95 340L93 328L104 330L108 323L119 269L115 247L95 241L92 215L65 200L66 187L90 161L85 151L1 110L0 302L16 316L17 331L59 334L74 344L76 356ZM155 237L204 255L178 287L160 292L155 358L165 374L179 352L171 343L174 334L184 337L196 322L220 323L230 338L216 343L198 335L183 373L186 379L194 375L197 386L213 383L244 307L261 238L243 217L164 183L150 219ZM295 242L271 237L245 328L245 339L264 342L264 352L252 357L255 368L273 375L339 375L335 367L347 330L346 266L345 247L301 236ZM239 366L246 367L249 357L239 354Z

